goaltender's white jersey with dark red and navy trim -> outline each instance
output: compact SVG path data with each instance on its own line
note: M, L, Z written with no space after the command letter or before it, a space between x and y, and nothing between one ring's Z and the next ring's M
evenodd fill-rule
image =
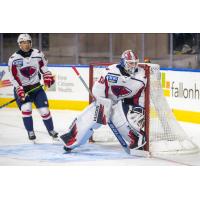
M127 98L131 99L133 105L144 106L144 88L147 82L145 70L137 67L130 76L122 74L118 66L110 65L104 70L93 86L94 96L109 98L114 103Z

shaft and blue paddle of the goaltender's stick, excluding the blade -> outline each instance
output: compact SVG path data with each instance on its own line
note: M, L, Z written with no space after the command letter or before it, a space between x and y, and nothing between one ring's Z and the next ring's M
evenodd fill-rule
M82 76L80 75L80 73L78 72L78 70L76 69L76 67L73 66L72 69L75 71L76 75L79 77L79 79L81 80L81 82L83 83L83 85L85 86L85 88L87 89L87 91L89 92L90 96L94 100L96 100L96 98L92 94L91 90L89 89L89 87L87 86L87 84L85 83L85 81L83 80ZM126 141L123 139L123 137L121 136L121 134L119 133L119 131L117 130L117 128L115 127L115 125L113 124L113 122L111 120L109 120L108 125L109 125L110 129L112 130L112 132L114 133L114 135L116 136L116 138L118 139L118 141L121 144L121 146L123 147L124 151L126 153L130 154L130 148L128 147Z

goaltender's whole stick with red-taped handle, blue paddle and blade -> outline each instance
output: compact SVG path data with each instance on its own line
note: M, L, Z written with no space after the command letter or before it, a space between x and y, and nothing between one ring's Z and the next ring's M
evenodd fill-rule
M89 92L90 96L95 101L96 98L92 94L91 90L89 89L89 87L87 86L87 84L85 83L85 81L83 80L82 76L80 75L80 73L78 72L78 70L76 69L76 67L73 66L72 69L74 70L74 72L76 73L76 75L79 77L79 79L81 80L81 82L83 83L83 85L85 86L85 88L87 89L87 91ZM119 133L119 131L117 130L117 128L115 127L115 125L113 124L113 122L111 120L109 120L108 125L109 125L110 129L112 130L112 132L114 133L114 135L117 138L117 140L119 141L119 143L121 144L121 146L123 147L124 151L127 154L134 155L134 156L142 156L142 157L148 157L149 156L149 152L147 152L147 151L130 149L128 147L128 144L123 139L123 137L121 136L121 134Z

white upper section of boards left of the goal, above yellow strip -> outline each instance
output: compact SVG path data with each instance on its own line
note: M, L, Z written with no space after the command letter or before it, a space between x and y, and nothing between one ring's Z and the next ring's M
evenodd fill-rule
M71 67L49 67L49 69L56 78L56 83L47 91L50 100L88 101L89 94ZM86 83L89 84L89 68L80 67L78 70ZM5 71L2 80L9 79L8 68L0 66L0 73L2 71ZM13 87L0 88L0 97L12 98Z

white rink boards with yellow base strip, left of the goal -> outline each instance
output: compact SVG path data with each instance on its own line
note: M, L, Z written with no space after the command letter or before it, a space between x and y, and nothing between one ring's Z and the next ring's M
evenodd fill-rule
M55 84L47 90L51 109L83 110L89 104L89 94L71 68L72 65L49 65L55 75ZM76 65L84 80L89 84L88 65ZM0 66L0 74L4 74L0 84L0 105L13 98L13 87L4 84L9 80L7 65ZM1 76L0 76L1 78ZM16 107L15 103L8 107Z

